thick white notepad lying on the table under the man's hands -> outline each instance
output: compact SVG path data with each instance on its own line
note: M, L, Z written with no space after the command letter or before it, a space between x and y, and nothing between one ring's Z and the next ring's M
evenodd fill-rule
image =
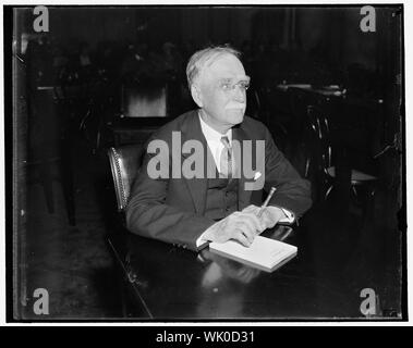
M262 236L256 236L248 248L235 240L228 240L210 243L209 250L266 272L274 272L297 252L292 245Z

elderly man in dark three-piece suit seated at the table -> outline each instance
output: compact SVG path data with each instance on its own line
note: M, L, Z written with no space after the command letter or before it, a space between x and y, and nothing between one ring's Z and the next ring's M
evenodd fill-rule
M239 57L232 48L211 47L190 59L187 82L199 109L178 116L149 139L126 209L131 232L192 250L228 239L250 246L264 229L292 223L309 208L309 183L278 150L266 126L244 116L250 77ZM183 148L177 151L177 139L180 145L191 140L202 145L201 157L194 146L197 160L205 164L202 175L191 177L183 173L184 165L175 165L190 158ZM240 153L234 153L235 142ZM247 142L256 148L264 144L263 151L253 151L253 146L244 146ZM159 151L154 150L156 144ZM156 176L154 160L161 148L167 153L159 158L160 165L167 171ZM242 170L247 161L256 165L260 161L262 172L247 177ZM259 179L263 185L254 186ZM268 192L271 187L276 194L258 214L263 189Z

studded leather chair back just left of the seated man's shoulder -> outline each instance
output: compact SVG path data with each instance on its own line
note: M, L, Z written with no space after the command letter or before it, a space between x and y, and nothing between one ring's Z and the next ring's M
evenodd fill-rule
M118 211L120 212L123 212L126 208L131 194L131 186L141 166L143 153L144 147L141 144L117 148L112 147L108 150Z

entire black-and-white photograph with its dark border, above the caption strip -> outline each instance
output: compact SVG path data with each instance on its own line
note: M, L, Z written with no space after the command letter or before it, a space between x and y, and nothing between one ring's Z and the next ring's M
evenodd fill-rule
M402 3L3 16L8 322L408 320Z

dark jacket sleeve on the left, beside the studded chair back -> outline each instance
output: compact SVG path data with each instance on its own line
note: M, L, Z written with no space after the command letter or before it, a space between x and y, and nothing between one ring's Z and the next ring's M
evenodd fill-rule
M147 164L151 157L146 151L132 187L126 207L126 227L145 237L197 250L196 239L215 221L166 203L170 179L155 179L148 175Z

